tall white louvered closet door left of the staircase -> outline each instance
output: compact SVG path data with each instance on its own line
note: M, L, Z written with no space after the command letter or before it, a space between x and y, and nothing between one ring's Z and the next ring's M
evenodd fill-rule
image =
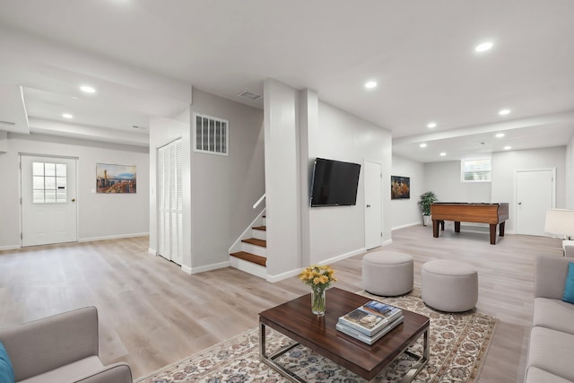
M158 251L161 257L181 265L181 140L158 149L158 212Z

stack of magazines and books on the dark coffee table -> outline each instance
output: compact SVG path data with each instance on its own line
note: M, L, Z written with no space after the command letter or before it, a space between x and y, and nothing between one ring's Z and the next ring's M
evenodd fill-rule
M355 330L361 331L364 335L373 336L403 314L403 310L395 307L388 309L382 308L378 305L370 305L370 308L367 309L365 306L353 309L350 313L340 317L338 322L344 326L349 326ZM372 309L372 307L375 306L377 308ZM378 312L377 309L380 309L381 312Z

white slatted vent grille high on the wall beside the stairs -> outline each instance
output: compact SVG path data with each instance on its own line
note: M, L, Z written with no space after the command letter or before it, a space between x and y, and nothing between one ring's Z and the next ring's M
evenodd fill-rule
M229 155L229 121L195 114L194 151Z

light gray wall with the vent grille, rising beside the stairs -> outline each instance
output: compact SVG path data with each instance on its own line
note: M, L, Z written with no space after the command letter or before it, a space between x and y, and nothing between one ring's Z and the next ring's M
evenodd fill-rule
M263 111L193 90L193 113L229 121L229 156L191 151L192 272L229 265L229 248L262 207L265 193Z

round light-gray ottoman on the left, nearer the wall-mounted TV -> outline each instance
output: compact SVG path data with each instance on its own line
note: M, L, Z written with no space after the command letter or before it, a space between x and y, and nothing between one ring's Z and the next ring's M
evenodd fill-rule
M413 257L398 251L376 251L362 258L365 291L386 297L413 290Z

